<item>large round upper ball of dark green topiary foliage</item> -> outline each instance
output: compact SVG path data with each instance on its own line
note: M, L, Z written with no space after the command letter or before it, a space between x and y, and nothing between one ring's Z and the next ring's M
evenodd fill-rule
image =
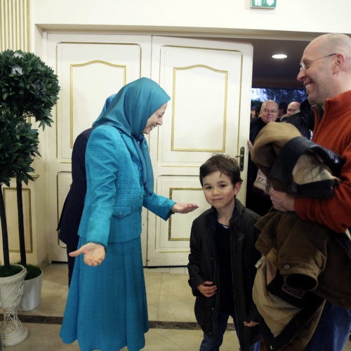
M58 100L58 78L33 53L0 53L0 106L18 116L34 117L39 127L51 126L51 108Z

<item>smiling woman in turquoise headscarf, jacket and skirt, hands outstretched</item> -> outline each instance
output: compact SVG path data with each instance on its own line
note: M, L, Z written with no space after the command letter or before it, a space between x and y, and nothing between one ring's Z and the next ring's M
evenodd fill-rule
M87 192L60 337L78 340L82 351L145 346L149 329L143 262L141 211L167 220L196 204L176 204L153 190L143 134L162 124L169 96L154 81L127 84L95 121L86 147Z

